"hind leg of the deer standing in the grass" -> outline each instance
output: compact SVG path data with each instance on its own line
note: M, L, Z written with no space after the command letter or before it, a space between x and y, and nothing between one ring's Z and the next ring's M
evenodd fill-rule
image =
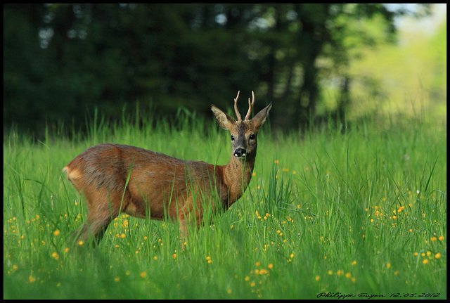
M85 192L85 195L89 214L86 221L72 234L72 239L75 239L75 243L83 241L96 246L105 236L108 225L119 214L122 197L119 193L108 195L106 190L96 191L94 194Z

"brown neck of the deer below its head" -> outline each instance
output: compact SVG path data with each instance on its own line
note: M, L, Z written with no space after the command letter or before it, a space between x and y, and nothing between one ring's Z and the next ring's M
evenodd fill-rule
M252 179L253 167L255 167L255 157L243 161L233 155L230 162L221 167L222 181L229 192L228 207L243 195Z

